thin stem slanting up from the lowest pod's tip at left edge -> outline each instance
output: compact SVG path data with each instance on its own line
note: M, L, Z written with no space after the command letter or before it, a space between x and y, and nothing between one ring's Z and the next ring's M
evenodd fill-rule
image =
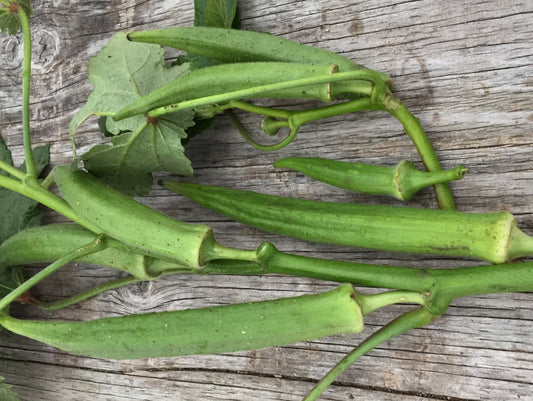
M90 242L89 244L82 246L72 252L69 252L65 256L59 258L54 263L45 267L35 276L26 280L24 283L19 285L13 291L7 294L4 298L2 298L0 300L0 311L7 307L15 299L20 297L22 294L24 294L26 291L28 291L30 288L32 288L34 285L36 285L38 282L48 277L50 274L54 273L59 268L65 266L67 263L82 258L86 255L101 251L105 248L105 246L105 241L103 240L103 238L99 237L96 240Z

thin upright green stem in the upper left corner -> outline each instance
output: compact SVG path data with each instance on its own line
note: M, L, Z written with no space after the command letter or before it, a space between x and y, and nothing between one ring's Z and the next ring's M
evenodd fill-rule
M22 70L22 132L24 137L24 157L28 177L37 178L37 168L31 149L30 133L30 81L31 81L31 30L28 16L23 7L17 11L24 41L24 63Z

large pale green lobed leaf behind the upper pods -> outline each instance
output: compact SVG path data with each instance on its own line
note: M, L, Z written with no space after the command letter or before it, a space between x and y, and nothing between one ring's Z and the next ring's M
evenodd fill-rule
M189 72L188 64L168 67L161 46L130 42L117 34L89 62L94 90L76 113L69 129L74 137L90 116L112 116L153 89ZM97 145L82 155L85 168L127 195L145 195L158 171L192 175L181 140L194 122L192 110L168 114L157 120L135 116L122 121L100 120L100 130L113 135L111 144Z

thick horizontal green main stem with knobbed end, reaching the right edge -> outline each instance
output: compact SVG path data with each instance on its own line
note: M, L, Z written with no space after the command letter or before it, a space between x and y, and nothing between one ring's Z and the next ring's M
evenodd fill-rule
M257 258L270 273L425 293L430 296L430 303L440 299L431 308L435 313L442 313L442 306L457 297L533 292L533 262L457 269L380 266L290 255L268 242L258 248Z

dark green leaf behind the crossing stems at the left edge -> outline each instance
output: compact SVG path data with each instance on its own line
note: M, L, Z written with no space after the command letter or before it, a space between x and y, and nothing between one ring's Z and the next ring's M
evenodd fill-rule
M1 140L0 143L2 144L0 149L5 147ZM8 150L7 153L5 153L5 150L0 150L0 155L2 155L4 161L11 163L11 154ZM37 173L40 174L50 162L49 145L35 148L33 157ZM20 170L26 171L26 166L23 164ZM37 209L37 205L38 202L33 199L5 188L0 188L0 221L2 222L0 225L0 244L25 228L41 224L42 212Z

